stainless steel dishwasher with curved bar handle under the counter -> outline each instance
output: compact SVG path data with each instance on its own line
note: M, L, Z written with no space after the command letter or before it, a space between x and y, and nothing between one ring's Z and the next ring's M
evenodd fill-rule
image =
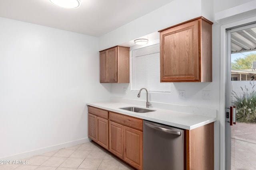
M143 170L184 170L184 129L143 122Z

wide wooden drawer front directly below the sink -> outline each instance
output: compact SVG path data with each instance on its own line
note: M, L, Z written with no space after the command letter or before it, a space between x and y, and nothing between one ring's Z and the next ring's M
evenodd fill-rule
M122 125L126 125L128 127L132 127L140 131L143 131L142 119L138 119L138 118L134 118L134 117L118 114L118 113L113 113L113 112L109 112L109 119L116 123L120 123Z

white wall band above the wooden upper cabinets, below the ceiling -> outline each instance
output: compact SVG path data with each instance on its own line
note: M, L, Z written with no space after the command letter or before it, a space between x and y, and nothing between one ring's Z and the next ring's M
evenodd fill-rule
M201 0L174 0L100 37L100 50L201 16Z

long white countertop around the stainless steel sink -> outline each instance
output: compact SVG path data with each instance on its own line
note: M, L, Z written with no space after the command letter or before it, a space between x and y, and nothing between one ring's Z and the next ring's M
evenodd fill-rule
M87 105L187 130L192 130L217 120L216 117L185 113L168 109L159 109L155 107L150 107L148 109L153 109L156 111L148 113L136 113L133 111L119 109L120 107L136 106L134 104L121 102L90 102L87 103ZM146 108L142 106L136 107Z

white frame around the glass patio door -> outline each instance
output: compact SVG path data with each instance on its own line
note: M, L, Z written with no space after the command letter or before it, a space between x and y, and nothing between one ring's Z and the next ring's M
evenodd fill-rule
M252 23L256 16L220 26L220 170L226 169L226 65L227 65L227 34L226 29Z

